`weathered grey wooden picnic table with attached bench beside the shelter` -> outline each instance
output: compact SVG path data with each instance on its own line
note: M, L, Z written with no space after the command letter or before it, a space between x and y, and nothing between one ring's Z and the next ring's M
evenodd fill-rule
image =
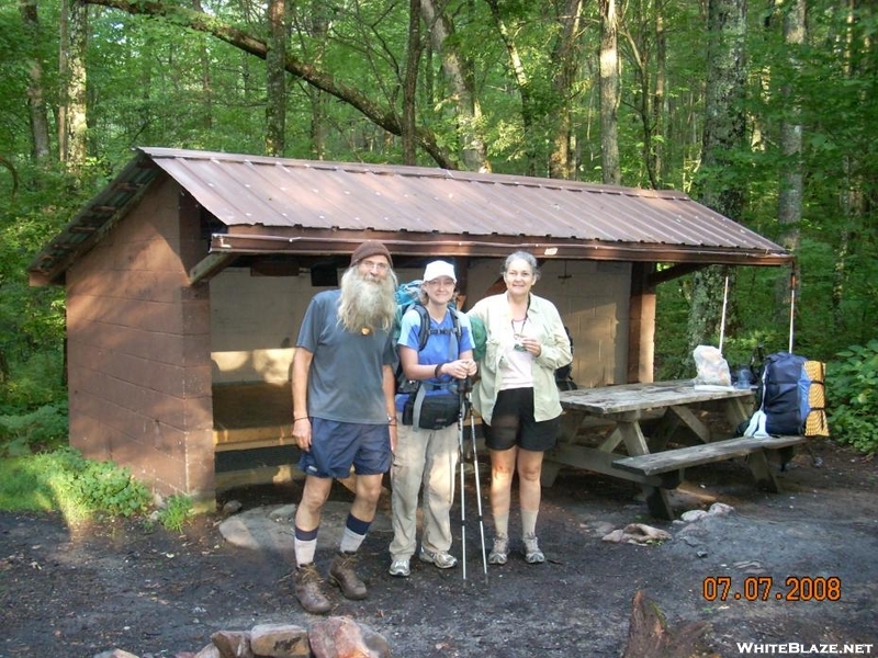
M652 515L674 519L668 490L683 481L685 468L746 457L756 484L778 491L767 455L791 449L803 436L730 436L699 417L712 405L736 428L750 418L750 389L696 386L693 381L623 384L561 392L564 408L556 447L545 453L543 485L561 466L574 466L641 485ZM649 420L649 434L644 424ZM603 431L599 431L603 430ZM684 443L668 449L671 443Z

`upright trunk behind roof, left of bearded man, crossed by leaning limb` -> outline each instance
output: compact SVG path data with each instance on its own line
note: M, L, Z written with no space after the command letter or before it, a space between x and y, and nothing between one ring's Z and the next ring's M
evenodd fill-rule
M268 3L269 47L266 53L266 154L286 148L286 0Z

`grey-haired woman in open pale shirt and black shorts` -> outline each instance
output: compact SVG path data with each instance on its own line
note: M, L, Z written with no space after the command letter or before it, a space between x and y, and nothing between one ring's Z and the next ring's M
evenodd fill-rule
M569 364L572 354L558 309L531 293L539 276L533 254L516 251L503 266L506 292L480 299L468 314L480 319L487 333L473 406L485 423L491 453L492 565L505 565L508 557L516 474L525 560L545 561L536 534L542 457L555 444L561 417L554 372Z

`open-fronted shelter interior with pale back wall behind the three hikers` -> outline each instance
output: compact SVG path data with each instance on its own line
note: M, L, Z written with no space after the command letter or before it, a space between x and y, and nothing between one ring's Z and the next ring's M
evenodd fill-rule
M431 259L395 259L401 282ZM457 259L462 309L497 290L503 259ZM241 262L243 261L243 262ZM349 257L241 259L210 282L211 362L217 489L294 476L290 370L311 297L335 287ZM551 299L574 342L582 386L627 381L631 263L544 261L534 294ZM465 281L463 274L465 273ZM620 340L621 334L621 340ZM238 451L258 449L258 454Z

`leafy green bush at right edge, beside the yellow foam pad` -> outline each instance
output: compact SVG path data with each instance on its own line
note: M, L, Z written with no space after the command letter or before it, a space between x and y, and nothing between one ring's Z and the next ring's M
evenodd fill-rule
M878 340L847 348L829 363L826 404L836 441L878 452Z

